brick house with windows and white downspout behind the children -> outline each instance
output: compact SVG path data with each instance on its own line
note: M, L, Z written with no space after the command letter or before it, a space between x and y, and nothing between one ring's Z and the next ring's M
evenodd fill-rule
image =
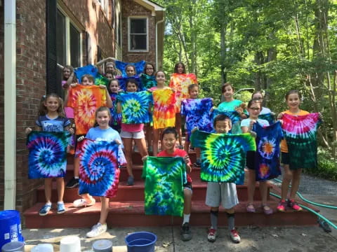
M12 20L6 18L9 8ZM27 177L25 128L34 126L46 92L62 93L58 64L77 67L114 57L161 68L164 8L149 0L0 0L0 21L0 210L14 204L24 211L43 182ZM5 36L8 27L12 40ZM5 41L14 48L10 56Z

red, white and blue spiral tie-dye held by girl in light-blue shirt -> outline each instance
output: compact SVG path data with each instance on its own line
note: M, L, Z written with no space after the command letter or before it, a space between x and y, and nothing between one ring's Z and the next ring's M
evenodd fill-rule
M119 183L119 164L126 163L114 141L79 142L79 195L114 197Z

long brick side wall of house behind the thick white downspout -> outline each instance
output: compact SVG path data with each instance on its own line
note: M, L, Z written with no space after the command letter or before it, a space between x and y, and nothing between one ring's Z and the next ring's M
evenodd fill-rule
M111 6L107 15L91 1L59 0L83 29L83 64L86 64L86 36L91 35L92 59L97 45L114 57ZM85 4L84 4L85 2ZM42 180L27 179L26 127L34 127L42 95L46 93L46 0L17 0L17 209L24 211L36 202L36 188ZM4 6L0 7L0 209L4 207Z

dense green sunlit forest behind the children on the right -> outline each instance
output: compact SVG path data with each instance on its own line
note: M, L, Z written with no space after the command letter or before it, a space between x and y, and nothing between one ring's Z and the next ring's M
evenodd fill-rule
M286 110L284 94L300 90L301 109L321 112L319 167L337 180L337 1L157 0L166 8L164 69L176 62L196 73L201 97L220 103L220 87L265 92L265 106ZM249 100L240 92L237 99Z

